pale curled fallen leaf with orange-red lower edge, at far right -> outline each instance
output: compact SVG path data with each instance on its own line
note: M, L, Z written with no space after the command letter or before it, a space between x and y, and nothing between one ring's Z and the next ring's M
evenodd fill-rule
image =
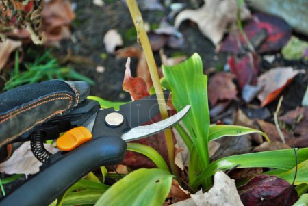
M261 107L274 101L292 79L305 70L293 70L292 67L277 67L268 70L258 78L258 85L264 89L258 94Z

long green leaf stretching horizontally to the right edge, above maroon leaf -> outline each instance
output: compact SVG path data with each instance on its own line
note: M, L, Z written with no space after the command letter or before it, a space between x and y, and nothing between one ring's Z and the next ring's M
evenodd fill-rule
M298 150L298 163L308 159L308 148ZM196 188L201 184L203 179L211 177L218 170L227 170L234 166L238 168L278 168L290 170L295 166L294 149L283 149L279 151L266 151L261 153L249 153L244 155L234 155L224 157L212 162L192 183L192 187Z

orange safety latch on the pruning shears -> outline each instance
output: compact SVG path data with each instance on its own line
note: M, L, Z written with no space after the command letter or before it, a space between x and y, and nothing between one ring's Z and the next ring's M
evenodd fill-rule
M75 127L57 138L57 148L61 151L72 151L91 139L92 133L86 127Z

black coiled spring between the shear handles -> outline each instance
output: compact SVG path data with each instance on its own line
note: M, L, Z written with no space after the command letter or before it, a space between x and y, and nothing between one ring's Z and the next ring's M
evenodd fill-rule
M34 133L32 133L31 135L30 144L31 144L31 151L36 157L36 159L38 159L42 163L46 163L52 154L49 153L49 151L47 151L47 149L44 148L43 140L44 140L44 132L34 131Z

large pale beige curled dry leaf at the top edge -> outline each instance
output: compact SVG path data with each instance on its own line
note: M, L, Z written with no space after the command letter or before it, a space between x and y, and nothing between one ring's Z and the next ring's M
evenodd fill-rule
M222 40L227 26L237 21L237 5L236 0L205 0L205 4L197 10L184 10L180 12L177 18L175 18L175 27L179 27L184 20L190 19L198 24L204 36L207 36L211 42L217 45ZM242 19L251 16L251 12L244 3L240 12Z

